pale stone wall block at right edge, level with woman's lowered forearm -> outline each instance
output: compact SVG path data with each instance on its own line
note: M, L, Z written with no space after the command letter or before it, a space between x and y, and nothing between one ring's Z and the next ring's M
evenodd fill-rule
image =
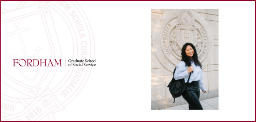
M209 91L219 89L219 71L208 71Z

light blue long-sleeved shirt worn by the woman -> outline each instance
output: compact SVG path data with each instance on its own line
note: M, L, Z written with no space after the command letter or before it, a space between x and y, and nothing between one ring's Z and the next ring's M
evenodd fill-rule
M176 66L175 74L174 74L174 79L179 80L184 78L185 83L189 79L189 83L192 81L199 81L199 87L202 91L205 91L205 87L203 86L203 77L202 77L202 70L200 66L195 66L195 63L191 61L191 65L194 68L194 72L191 73L191 76L189 78L189 73L187 73L187 66L185 66L185 62L181 61L179 64Z

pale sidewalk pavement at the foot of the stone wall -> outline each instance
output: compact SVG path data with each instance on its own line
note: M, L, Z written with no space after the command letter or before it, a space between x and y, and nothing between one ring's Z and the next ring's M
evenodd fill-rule
M203 110L219 110L219 97L204 99L200 101ZM162 110L189 110L189 104L168 107Z

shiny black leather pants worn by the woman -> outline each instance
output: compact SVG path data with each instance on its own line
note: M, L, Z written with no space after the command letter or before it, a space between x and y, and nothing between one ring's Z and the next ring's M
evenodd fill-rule
M182 97L189 103L189 110L203 110L199 102L200 89L199 81L192 81L182 94Z

